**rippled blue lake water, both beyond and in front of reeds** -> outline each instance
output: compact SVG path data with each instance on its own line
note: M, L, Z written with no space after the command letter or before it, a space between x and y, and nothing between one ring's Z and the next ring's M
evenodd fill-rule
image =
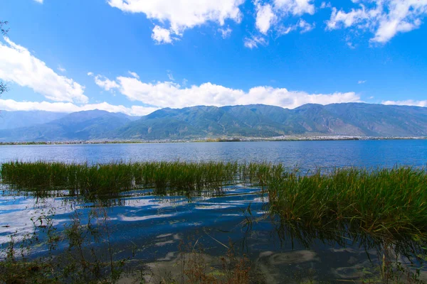
M106 163L112 160L231 160L270 161L302 169L344 166L393 167L427 164L427 141L297 141L239 143L147 143L63 146L0 146L0 162L9 160L58 160ZM154 197L131 192L107 207L111 241L116 248L129 244L139 248L135 257L155 263L159 270L173 270L179 244L197 239L206 255L224 255L224 244L232 240L238 251L248 254L266 275L268 283L297 283L312 274L316 280L352 280L364 276L378 264L372 248L352 239L319 239L292 236L278 231L274 220L265 219L268 202L259 188L229 187L223 196ZM0 243L11 234L22 236L33 230L31 218L48 215L58 231L78 212L82 224L96 204L69 197L0 196ZM244 223L251 208L251 229ZM49 211L51 210L51 211ZM246 216L246 217L245 217ZM62 249L64 249L63 247ZM46 248L34 251L46 253ZM59 248L61 249L61 248ZM124 253L126 254L126 253ZM374 268L372 268L374 269Z

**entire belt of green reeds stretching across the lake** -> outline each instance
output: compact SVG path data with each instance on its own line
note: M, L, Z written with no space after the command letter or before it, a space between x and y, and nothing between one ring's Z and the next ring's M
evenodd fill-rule
M83 197L149 188L154 195L223 193L243 183L268 192L270 214L297 226L411 233L427 239L427 171L420 168L337 168L302 175L273 163L144 162L1 165L2 182L31 192L68 190Z

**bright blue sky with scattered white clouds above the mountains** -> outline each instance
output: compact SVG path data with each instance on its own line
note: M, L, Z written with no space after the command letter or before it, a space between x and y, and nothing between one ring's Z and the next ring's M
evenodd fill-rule
M0 109L427 107L427 0L1 0Z

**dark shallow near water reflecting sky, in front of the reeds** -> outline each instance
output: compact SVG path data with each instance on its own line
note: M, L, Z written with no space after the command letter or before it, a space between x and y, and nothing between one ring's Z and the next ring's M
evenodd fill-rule
M412 277L427 255L426 244L413 239L390 241L363 231L338 227L320 230L281 222L265 214L268 199L259 188L234 186L223 196L191 200L185 196L156 197L145 191L133 193L110 202L4 195L0 197L1 243L6 244L16 231L20 236L36 231L38 242L32 244L31 257L49 253L58 257L70 248L70 230L77 228L88 238L85 261L107 260L106 252L113 244L115 261L132 260L126 262L130 267L142 261L155 272L155 277L150 274L152 281L162 273L180 277L176 263L194 252L183 250L183 244L191 244L200 253L199 261L209 263L215 273L221 270L221 256L226 256L232 245L237 256L248 256L251 269L262 275L265 283L378 282L386 275ZM54 251L46 242L49 224L61 236ZM88 234L88 228L101 228L102 234ZM76 246L71 249L73 253L78 251Z

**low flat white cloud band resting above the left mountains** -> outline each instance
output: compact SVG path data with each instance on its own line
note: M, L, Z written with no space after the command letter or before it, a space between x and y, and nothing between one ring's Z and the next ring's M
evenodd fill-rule
M115 106L108 104L107 102L102 102L100 104L83 104L78 106L70 102L16 102L13 99L0 99L0 109L6 111L54 111L65 113L100 109L110 112L121 112L132 116L143 116L156 111L158 108L142 106L124 107L122 105Z

